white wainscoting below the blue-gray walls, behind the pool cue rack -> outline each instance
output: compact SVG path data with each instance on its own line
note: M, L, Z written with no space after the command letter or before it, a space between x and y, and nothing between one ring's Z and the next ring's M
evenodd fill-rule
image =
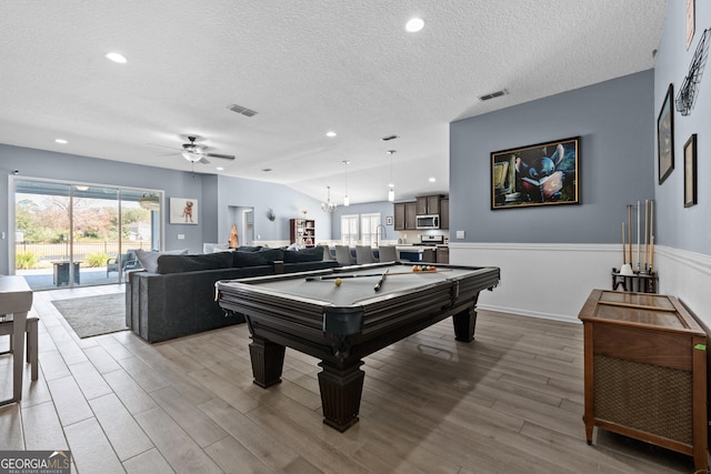
M501 284L482 292L482 309L578 322L593 289L610 290L621 244L450 242L450 263L499 266ZM634 258L637 258L634 255ZM659 292L681 299L711 327L711 256L657 245Z

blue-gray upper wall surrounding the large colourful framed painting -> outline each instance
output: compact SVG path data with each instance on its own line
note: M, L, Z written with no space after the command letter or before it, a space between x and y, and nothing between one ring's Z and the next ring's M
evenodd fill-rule
M450 241L620 242L625 205L653 199L652 92L650 70L451 123ZM491 152L578 135L580 205L491 211Z

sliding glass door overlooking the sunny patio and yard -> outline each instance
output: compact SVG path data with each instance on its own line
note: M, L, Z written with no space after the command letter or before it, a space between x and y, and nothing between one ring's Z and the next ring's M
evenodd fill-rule
M14 269L33 290L121 283L160 248L160 194L14 180Z

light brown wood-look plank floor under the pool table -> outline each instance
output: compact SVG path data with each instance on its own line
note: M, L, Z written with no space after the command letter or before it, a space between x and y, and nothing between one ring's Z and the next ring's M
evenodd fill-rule
M669 473L690 457L581 420L582 325L481 311L473 343L449 320L365 360L360 422L323 425L317 360L287 350L283 382L252 384L249 332L150 345L131 332L80 340L34 293L40 377L0 407L0 450L71 450L86 473ZM0 341L7 347L7 341ZM0 356L0 400L11 356Z

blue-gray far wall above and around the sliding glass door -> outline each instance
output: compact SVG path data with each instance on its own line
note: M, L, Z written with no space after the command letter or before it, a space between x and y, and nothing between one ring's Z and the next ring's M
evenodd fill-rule
M288 218L300 216L298 210L321 212L319 201L281 184L193 174L0 143L0 232L6 233L6 239L0 239L0 274L9 273L9 235L14 232L13 223L8 220L8 206L12 199L8 184L13 170L19 170L18 177L26 179L163 190L168 202L170 198L198 199L197 225L169 224L170 206L166 204L166 250L187 248L190 252L200 253L203 242L227 242L231 225L227 216L229 205L254 208L256 235L261 232L263 240L278 241L289 240ZM273 208L277 213L277 221L273 223L267 220L269 208ZM330 223L317 220L317 232L318 235L330 238ZM184 240L179 240L179 234L184 235Z

